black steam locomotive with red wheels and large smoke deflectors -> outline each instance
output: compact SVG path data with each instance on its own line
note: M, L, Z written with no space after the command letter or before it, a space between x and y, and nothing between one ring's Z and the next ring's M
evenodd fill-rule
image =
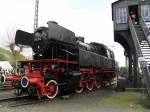
M18 62L15 75L1 77L2 83L12 81L17 95L54 99L63 92L92 91L117 77L113 51L97 42L84 43L83 37L54 21L34 33L18 30L15 43L34 52L33 60Z

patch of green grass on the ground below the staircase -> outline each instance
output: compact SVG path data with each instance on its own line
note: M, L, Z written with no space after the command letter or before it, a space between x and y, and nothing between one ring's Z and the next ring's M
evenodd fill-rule
M99 103L122 108L150 109L150 101L145 94L133 91L114 92L111 96L100 99Z

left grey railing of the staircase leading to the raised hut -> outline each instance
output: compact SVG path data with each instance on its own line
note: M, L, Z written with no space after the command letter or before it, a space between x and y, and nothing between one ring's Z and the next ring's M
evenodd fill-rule
M149 75L150 72L149 72L149 69L148 69L148 66L147 66L147 62L146 62L145 58L143 57L143 54L142 54L142 51L141 51L141 47L140 47L140 43L139 43L138 36L137 36L137 33L136 33L136 29L135 29L135 27L133 25L133 22L132 22L130 17L129 17L129 28L130 28L130 32L131 32L134 44L136 46L136 52L137 52L138 59L139 59L138 61L139 61L141 71L142 71L142 74L143 74L143 78L144 78L144 82L145 82L145 85L146 85L148 98L150 99L150 75Z

